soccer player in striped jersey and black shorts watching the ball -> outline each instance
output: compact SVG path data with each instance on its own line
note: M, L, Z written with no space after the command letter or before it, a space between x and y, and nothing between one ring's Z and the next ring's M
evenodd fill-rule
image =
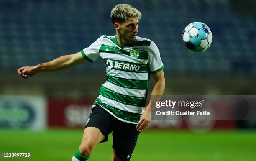
M93 62L102 57L106 82L92 106L82 142L72 161L87 161L97 144L113 135L112 161L129 161L137 138L151 122L151 102L145 107L152 73L156 84L151 95L162 95L164 65L156 44L137 36L141 13L130 5L119 4L111 11L116 36L101 36L81 52L61 56L47 63L18 69L25 79L40 73L58 71Z

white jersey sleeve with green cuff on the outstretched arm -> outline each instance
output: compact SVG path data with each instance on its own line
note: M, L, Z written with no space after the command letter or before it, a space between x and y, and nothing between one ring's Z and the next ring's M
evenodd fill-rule
M99 50L103 41L103 36L100 36L94 43L92 43L88 48L84 48L81 53L85 59L90 62L93 62L100 55Z

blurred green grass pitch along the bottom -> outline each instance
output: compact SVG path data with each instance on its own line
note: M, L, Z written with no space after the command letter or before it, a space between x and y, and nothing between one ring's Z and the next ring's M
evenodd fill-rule
M0 158L1 161L70 161L79 146L83 129L50 129L44 132L0 130L1 152L27 152L31 158ZM256 131L148 130L139 135L131 161L256 161ZM110 161L112 135L100 143L89 161Z

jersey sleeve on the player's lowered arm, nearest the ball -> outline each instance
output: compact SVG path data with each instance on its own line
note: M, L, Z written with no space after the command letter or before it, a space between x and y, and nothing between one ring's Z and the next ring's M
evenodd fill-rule
M164 69L164 64L160 57L160 52L156 44L152 41L148 49L148 64L151 73L155 74Z

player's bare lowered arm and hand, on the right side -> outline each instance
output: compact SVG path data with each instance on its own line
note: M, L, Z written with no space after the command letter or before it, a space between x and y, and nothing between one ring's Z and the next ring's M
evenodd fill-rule
M154 86L154 89L151 92L151 95L163 95L164 89L165 89L164 71L161 70L160 72L157 72L152 75L154 77L154 80L156 81L156 84ZM136 129L138 131L146 130L150 122L151 122L151 100L148 106L146 107L145 111L141 115L141 119L139 120L138 125L136 126Z

